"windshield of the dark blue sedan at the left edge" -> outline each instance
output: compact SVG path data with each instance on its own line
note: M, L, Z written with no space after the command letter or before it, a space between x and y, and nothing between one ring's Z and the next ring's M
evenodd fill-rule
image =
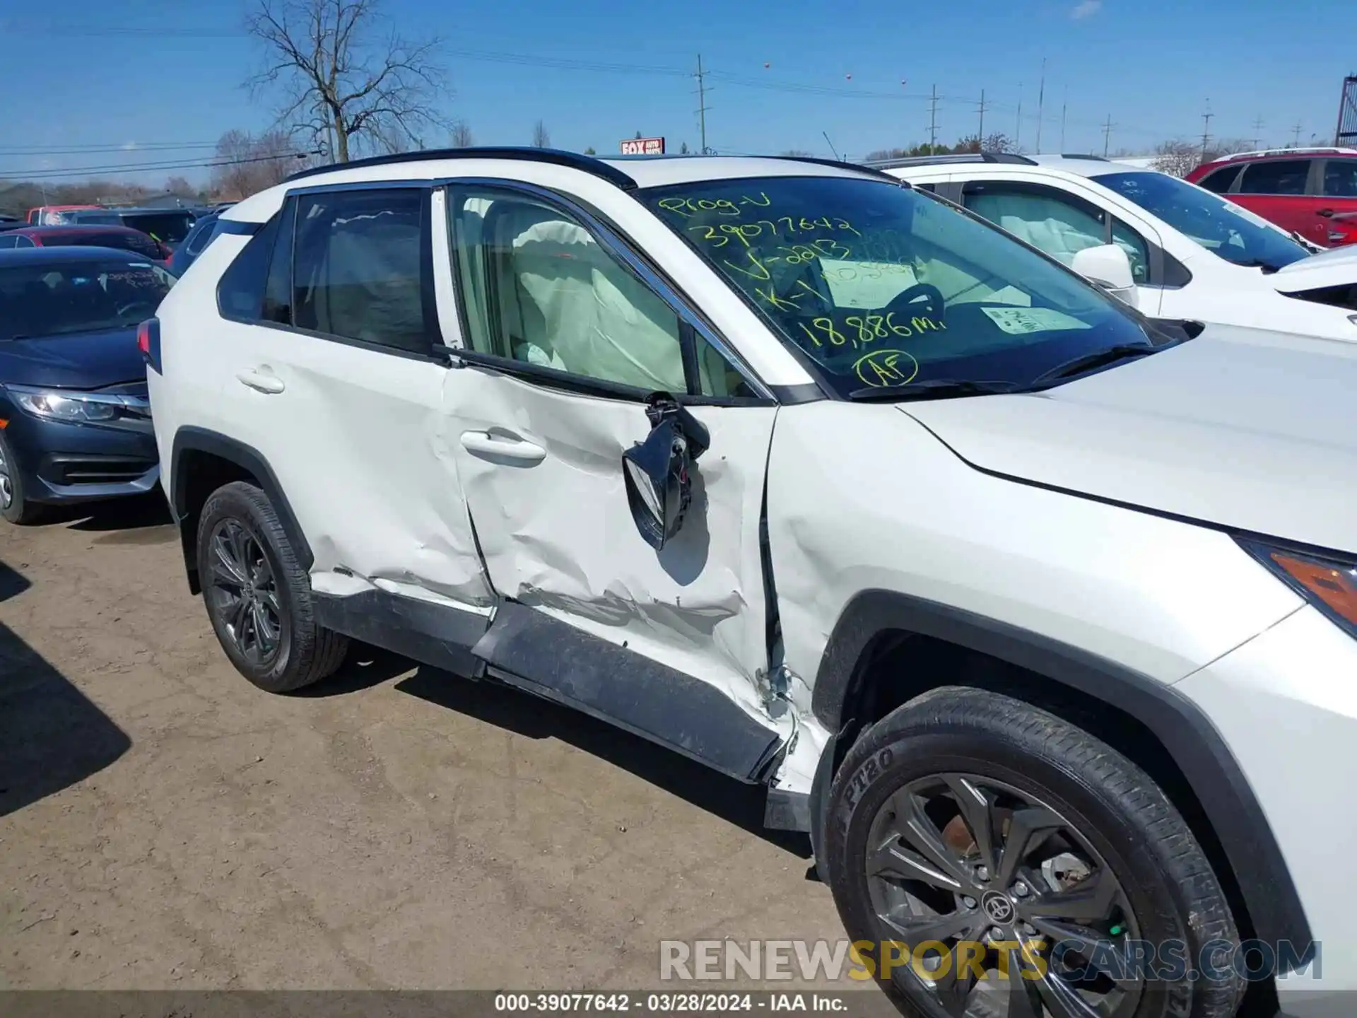
M145 262L0 267L0 339L132 328L156 314L174 277Z

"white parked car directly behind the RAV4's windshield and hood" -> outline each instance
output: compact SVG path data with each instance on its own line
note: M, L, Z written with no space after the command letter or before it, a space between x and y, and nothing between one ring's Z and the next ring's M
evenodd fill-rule
M1316 255L1177 176L1096 156L921 156L873 166L1113 284L1151 318L1357 342L1357 250ZM1125 252L1122 266L1109 247Z

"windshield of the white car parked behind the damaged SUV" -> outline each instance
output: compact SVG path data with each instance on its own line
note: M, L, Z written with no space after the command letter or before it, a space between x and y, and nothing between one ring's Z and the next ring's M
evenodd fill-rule
M1310 251L1267 220L1177 176L1132 172L1099 174L1092 179L1227 262L1276 271L1310 257Z

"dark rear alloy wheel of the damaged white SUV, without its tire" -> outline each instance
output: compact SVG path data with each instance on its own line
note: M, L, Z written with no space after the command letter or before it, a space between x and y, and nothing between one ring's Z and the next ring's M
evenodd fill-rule
M239 520L212 529L209 590L227 637L243 658L265 666L282 643L278 584L259 539Z

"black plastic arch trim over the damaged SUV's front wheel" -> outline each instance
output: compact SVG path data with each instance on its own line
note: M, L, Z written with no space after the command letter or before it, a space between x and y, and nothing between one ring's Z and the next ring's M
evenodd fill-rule
M882 633L934 637L1068 685L1125 711L1148 728L1186 778L1215 828L1248 908L1269 943L1311 942L1310 922L1267 817L1224 738L1197 704L1172 687L1114 661L961 608L893 590L864 590L839 616L821 657L811 710L835 733L811 790L813 840L824 843L828 785L848 749L843 733L864 652Z

